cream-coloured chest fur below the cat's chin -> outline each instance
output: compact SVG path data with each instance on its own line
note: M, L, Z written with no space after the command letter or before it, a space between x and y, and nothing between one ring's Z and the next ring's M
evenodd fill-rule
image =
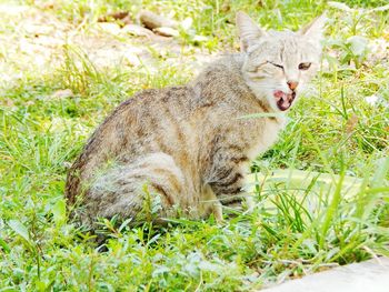
M285 120L268 119L266 122L263 122L262 127L260 127L255 133L256 137L250 143L250 148L248 149L248 158L253 160L258 154L261 154L268 150L278 140L279 133L285 128Z

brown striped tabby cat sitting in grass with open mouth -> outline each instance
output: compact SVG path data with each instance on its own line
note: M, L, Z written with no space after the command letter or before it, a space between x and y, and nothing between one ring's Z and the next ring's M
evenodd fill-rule
M151 89L122 102L94 131L69 170L73 217L222 220L223 205L247 198L249 163L277 140L286 113L320 63L325 16L297 32L265 31L237 13L241 42L194 81ZM242 119L262 113L261 118ZM150 203L151 202L151 203Z

